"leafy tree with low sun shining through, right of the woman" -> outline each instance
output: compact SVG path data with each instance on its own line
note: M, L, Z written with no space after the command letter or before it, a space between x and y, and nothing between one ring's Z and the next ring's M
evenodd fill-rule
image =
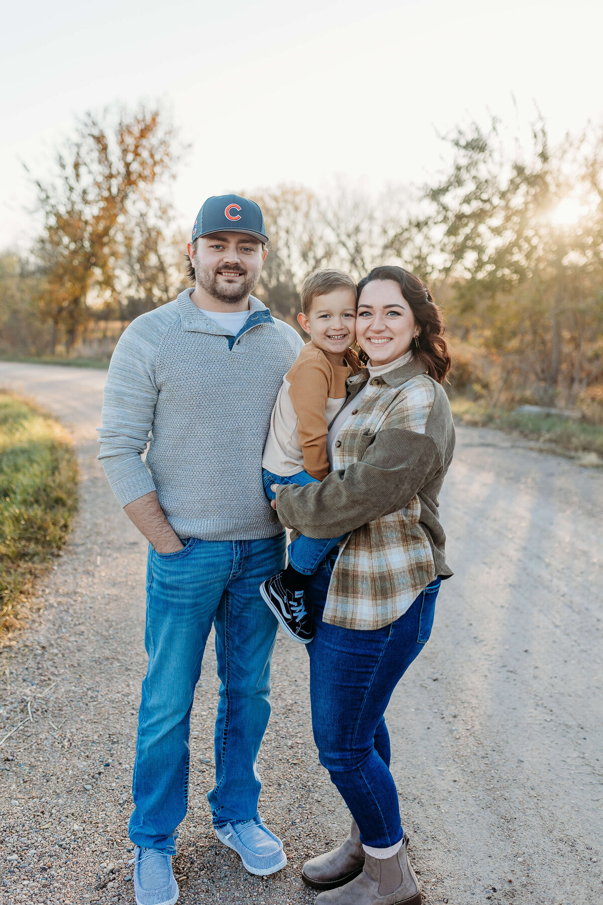
M603 134L551 149L539 122L530 153L511 158L496 122L488 132L457 129L450 141L453 165L426 187L415 229L426 257L440 260L440 281L452 283L453 320L499 364L499 388L572 402L603 330ZM564 222L562 205L578 209L580 199L584 212Z

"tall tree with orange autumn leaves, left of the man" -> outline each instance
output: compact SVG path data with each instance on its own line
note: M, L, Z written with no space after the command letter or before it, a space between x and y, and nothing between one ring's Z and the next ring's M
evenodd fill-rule
M119 308L127 278L136 278L134 258L139 265L149 258L134 251L136 238L149 241L152 232L155 250L164 239L165 224L159 217L151 226L149 212L167 212L157 189L177 160L174 130L159 110L88 113L58 154L54 178L36 182L44 216L36 251L46 274L40 310L53 347L62 333L72 348L90 319L92 292Z

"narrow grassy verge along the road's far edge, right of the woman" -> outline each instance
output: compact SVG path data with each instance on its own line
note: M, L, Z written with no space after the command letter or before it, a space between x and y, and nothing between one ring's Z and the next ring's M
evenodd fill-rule
M452 414L460 424L476 427L495 427L502 431L516 431L528 440L543 444L549 452L582 457L585 464L603 464L603 427L573 421L552 414L532 414L493 408L484 402L474 402L462 396L450 400Z

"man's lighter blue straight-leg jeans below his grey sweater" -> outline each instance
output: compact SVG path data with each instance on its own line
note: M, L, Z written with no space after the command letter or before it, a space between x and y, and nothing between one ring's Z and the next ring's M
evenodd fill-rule
M146 678L138 715L130 818L133 843L175 854L188 804L189 723L212 623L220 698L215 724L214 824L258 812L256 760L270 715L270 658L277 620L259 585L285 563L285 534L266 540L191 538L146 567Z

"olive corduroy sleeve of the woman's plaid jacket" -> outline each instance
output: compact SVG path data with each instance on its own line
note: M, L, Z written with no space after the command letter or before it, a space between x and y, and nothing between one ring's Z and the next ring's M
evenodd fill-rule
M278 487L278 518L287 528L309 538L346 534L407 506L442 468L429 434L385 428L367 439L362 459L331 472L320 484Z

